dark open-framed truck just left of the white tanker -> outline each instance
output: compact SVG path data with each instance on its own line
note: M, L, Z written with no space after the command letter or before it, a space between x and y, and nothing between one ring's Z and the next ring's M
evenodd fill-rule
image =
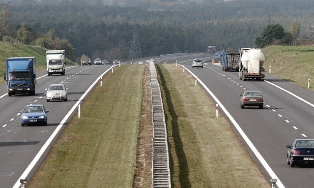
M223 50L221 60L223 71L239 71L240 52Z

